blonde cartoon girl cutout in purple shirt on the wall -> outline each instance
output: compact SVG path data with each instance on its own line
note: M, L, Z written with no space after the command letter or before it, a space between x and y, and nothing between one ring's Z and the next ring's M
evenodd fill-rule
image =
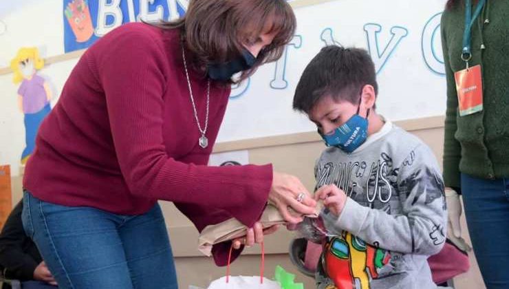
M25 149L21 154L21 164L25 164L35 147L35 137L41 122L50 114L52 92L44 78L36 74L43 68L44 61L39 57L36 47L23 47L10 63L14 72L14 84L21 83L18 89L19 109L25 114Z

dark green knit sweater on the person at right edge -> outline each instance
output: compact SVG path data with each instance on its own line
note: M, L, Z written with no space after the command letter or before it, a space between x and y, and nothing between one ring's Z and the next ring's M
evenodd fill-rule
M454 72L465 68L460 58L464 19L464 1L458 1L442 14L441 24L447 78L444 182L456 188L460 172L485 179L509 177L509 1L486 1L473 25L469 65L481 64L484 110L459 116ZM486 49L481 50L481 43Z

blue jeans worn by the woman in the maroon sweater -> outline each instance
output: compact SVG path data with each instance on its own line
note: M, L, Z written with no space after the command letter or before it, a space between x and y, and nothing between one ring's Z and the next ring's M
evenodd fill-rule
M177 288L161 208L117 215L23 195L23 227L58 288Z

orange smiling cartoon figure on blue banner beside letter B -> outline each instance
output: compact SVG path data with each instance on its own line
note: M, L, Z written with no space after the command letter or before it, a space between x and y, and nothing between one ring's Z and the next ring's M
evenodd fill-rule
M94 34L87 0L73 0L64 10L65 17L76 36L76 42L86 42Z

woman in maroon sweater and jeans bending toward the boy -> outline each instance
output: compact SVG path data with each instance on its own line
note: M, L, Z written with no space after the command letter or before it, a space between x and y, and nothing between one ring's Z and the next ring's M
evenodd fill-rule
M58 286L176 288L158 200L199 231L235 217L248 245L263 239L268 201L288 222L300 220L289 207L314 212L303 184L270 164L206 166L232 75L277 60L295 26L284 0L191 0L183 19L122 25L85 52L23 180L23 226ZM213 248L216 264L230 246Z

